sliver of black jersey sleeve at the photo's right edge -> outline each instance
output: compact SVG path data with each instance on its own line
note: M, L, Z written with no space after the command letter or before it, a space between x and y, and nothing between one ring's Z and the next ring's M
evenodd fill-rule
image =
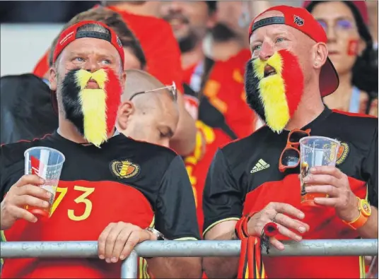
M378 124L378 122L377 122ZM368 201L378 208L378 126L373 133L373 140L368 154L363 161L363 178L367 182Z

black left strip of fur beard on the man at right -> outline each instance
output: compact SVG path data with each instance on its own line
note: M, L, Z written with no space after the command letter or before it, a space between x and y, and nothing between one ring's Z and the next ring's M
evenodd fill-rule
M258 84L260 80L255 76L254 70L252 68L252 59L247 61L246 71L245 71L245 93L246 93L246 102L249 107L251 107L260 118L265 121L266 117L264 116L264 105L260 99L260 91Z

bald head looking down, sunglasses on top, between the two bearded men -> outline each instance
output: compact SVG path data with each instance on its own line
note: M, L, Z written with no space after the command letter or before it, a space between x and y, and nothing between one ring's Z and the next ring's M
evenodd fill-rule
M117 130L138 141L169 147L179 120L173 88L165 87L144 71L126 72L127 81L122 105L118 110ZM163 89L156 90L158 88Z

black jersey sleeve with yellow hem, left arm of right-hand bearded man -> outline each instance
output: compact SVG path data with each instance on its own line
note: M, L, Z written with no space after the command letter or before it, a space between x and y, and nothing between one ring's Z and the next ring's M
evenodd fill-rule
M217 150L204 187L204 235L218 222L240 219L243 212L241 193L223 151Z

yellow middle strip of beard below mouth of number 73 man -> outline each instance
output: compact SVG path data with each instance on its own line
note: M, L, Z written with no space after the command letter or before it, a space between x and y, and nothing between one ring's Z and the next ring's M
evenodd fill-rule
M83 89L79 93L83 112L84 138L99 147L107 141L107 117L103 89Z

